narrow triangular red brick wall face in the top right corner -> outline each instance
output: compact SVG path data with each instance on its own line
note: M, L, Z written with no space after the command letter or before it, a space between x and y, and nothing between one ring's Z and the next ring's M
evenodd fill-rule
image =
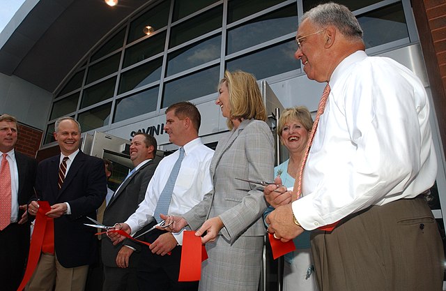
M443 90L446 92L446 1L424 0L424 8L436 53Z

